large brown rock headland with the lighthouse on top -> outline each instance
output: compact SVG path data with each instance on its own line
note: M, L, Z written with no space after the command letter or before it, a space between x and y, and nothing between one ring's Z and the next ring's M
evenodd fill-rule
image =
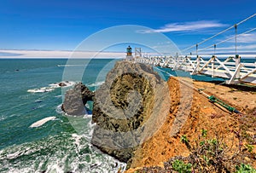
M96 90L91 143L123 162L154 135L169 112L168 86L151 66L116 62Z

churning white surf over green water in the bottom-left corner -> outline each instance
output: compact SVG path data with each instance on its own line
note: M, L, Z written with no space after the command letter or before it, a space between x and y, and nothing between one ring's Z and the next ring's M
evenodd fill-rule
M101 153L84 135L62 134L0 150L3 172L117 172L124 163ZM45 155L45 151L54 151ZM42 152L42 153L41 153ZM22 159L22 156L30 156ZM15 166L11 162L15 160ZM4 163L4 164L3 164ZM5 170L5 171L4 171Z

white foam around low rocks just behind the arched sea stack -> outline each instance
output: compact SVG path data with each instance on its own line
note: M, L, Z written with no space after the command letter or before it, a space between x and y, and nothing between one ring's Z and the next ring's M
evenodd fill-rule
M74 84L76 84L73 81L63 81L61 83L55 83L55 84L49 84L48 87L42 87L40 89L28 89L27 92L29 93L45 93L53 91L54 89L61 88L61 84L63 84L63 87L71 87Z

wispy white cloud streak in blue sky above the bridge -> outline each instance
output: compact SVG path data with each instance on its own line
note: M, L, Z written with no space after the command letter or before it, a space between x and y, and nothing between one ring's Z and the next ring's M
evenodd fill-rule
M224 27L225 24L219 23L216 20L199 20L188 21L180 23L171 23L166 26L160 27L160 29L139 31L143 33L154 32L199 32L210 28Z

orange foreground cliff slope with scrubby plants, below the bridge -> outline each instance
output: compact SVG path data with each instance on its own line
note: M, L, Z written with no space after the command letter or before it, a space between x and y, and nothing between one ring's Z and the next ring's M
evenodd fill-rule
M213 95L218 98L223 97L222 100L229 101L232 107L239 107L241 101L244 101L243 103L246 103L244 107L247 105L253 108L244 114L227 112L223 107L212 104L196 90L189 89L182 81L198 89L204 89L208 95L214 93ZM154 136L137 147L130 164L131 169L125 172L177 172L172 166L177 159L192 164L194 172L236 172L236 165L240 164L250 164L255 168L255 91L235 90L219 84L192 81L189 78L169 78L168 85L171 98L170 115ZM232 94L236 99L230 99ZM192 99L189 99L189 95ZM244 95L247 95L247 98ZM189 104L191 107L188 108ZM183 126L178 128L176 135L172 136L179 112L184 114L186 111L189 115ZM179 119L178 122L182 121ZM204 135L203 131L207 132L207 135ZM183 137L188 143L183 141ZM205 141L218 141L218 147L221 146L220 155L216 146L210 144L214 150L210 149ZM249 152L247 145L254 146L254 149ZM211 153L212 151L214 154ZM210 152L212 155L206 155L205 152ZM205 164L206 156L207 160L211 160L207 164Z

